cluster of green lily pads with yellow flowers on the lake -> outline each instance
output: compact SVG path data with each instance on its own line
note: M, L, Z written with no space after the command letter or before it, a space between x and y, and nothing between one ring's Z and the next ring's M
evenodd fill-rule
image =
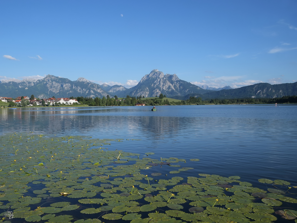
M193 168L182 167L185 159L103 147L111 142L122 139L0 136L0 208L19 222L258 223L297 216L297 190L287 181L260 179L263 190L238 176L187 177L183 171ZM166 179L157 167L168 167Z

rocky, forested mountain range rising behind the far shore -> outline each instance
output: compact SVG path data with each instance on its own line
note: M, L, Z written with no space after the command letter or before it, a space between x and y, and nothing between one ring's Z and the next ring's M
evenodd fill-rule
M127 89L121 85L95 84L86 78L71 81L67 78L47 75L40 80L4 80L0 81L0 96L12 97L34 95L37 98L68 97L118 97L144 96L154 97L159 94L168 98L187 100L190 96L207 98L275 98L286 95L297 95L297 82L286 84L259 83L232 89L230 86L212 88L207 85L198 87L183 81L176 74L164 74L159 70L152 70L143 76L139 83Z

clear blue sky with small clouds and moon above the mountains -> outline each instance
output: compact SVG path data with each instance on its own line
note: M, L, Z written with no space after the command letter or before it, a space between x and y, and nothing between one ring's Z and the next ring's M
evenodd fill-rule
M297 1L0 1L0 80L297 81Z

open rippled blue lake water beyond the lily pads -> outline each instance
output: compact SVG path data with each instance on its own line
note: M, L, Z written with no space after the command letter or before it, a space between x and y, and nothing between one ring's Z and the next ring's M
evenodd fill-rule
M129 139L109 150L184 158L189 176L238 175L297 185L297 105L215 105L1 109L0 134L88 135ZM140 141L131 139L141 139ZM189 161L198 158L200 161ZM162 168L165 169L165 168ZM158 169L162 173L162 169Z

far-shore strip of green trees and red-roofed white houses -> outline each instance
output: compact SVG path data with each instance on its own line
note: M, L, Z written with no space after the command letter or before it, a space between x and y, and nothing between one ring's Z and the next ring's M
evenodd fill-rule
M0 97L0 100L3 97ZM271 103L297 103L297 96L283 96L281 98L232 98L232 99L206 99L202 100L201 97L190 97L188 100L178 100L173 98L167 98L166 95L160 94L156 97L145 98L144 96L118 98L103 96L102 98L92 97L70 97L70 98L52 98L39 99L31 97L18 97L22 98L18 101L18 104L13 102L14 99L10 99L8 102L0 101L0 106L159 106L159 105L221 105L221 104L271 104ZM29 99L28 99L29 98ZM33 99L32 99L33 98Z

